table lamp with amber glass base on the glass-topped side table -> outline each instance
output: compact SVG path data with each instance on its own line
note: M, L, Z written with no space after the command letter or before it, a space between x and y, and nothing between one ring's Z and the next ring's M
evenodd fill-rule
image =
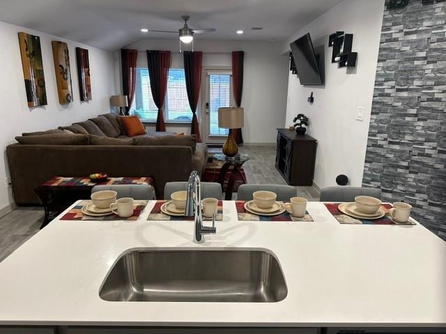
M223 145L223 154L226 157L234 157L237 154L238 146L231 130L241 129L243 125L243 108L229 107L218 109L218 127L229 129L228 138Z

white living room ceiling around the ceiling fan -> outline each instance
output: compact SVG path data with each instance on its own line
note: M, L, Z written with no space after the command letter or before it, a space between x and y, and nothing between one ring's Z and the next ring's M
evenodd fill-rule
M144 38L141 28L178 30L181 15L192 29L216 28L196 38L283 40L342 0L0 0L0 21L116 50ZM253 26L263 27L252 31ZM245 31L236 35L236 30Z

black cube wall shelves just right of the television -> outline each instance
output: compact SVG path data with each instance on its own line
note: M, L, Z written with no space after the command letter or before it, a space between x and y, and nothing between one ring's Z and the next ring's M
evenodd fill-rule
M356 67L357 52L352 51L353 33L337 31L328 38L328 47L332 47L332 63L338 67Z

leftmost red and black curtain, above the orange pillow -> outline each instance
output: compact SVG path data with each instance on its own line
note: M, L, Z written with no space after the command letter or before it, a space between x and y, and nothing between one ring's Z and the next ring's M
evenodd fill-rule
M123 75L123 95L127 95L125 115L128 115L134 99L134 87L137 77L137 50L121 49L121 65Z

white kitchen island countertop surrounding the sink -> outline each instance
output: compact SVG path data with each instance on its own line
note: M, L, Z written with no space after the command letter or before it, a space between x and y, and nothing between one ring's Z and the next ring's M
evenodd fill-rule
M314 222L224 221L204 244L192 221L56 219L0 263L0 325L446 326L446 242L422 225L341 225L323 203ZM60 217L60 216L59 216ZM256 248L282 267L278 303L103 301L108 271L132 248Z

